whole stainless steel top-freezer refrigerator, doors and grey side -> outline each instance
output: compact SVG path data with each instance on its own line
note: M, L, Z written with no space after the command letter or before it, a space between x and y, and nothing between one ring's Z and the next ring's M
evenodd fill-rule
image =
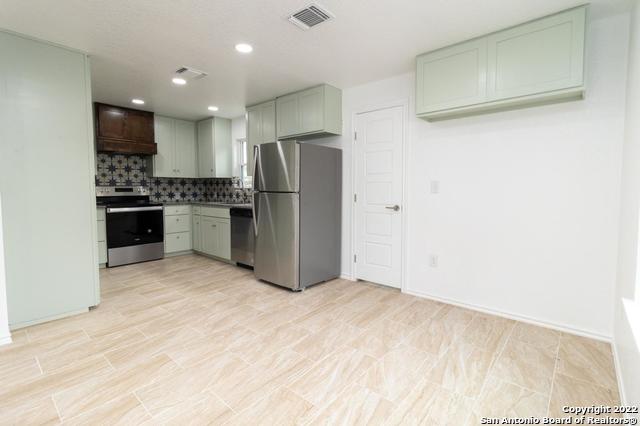
M256 277L296 291L338 277L342 151L297 141L254 149Z

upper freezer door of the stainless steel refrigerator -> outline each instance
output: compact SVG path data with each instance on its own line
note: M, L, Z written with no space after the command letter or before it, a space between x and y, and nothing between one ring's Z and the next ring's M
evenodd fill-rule
M300 190L300 147L296 141L256 145L254 188L260 192Z

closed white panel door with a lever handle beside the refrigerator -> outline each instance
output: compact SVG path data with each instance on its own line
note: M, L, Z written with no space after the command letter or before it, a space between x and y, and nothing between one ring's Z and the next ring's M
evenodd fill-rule
M358 114L356 278L400 288L403 109Z

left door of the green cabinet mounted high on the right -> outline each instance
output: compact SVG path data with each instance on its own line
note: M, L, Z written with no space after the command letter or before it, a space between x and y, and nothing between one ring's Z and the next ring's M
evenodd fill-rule
M487 39L436 50L416 59L416 113L484 102Z

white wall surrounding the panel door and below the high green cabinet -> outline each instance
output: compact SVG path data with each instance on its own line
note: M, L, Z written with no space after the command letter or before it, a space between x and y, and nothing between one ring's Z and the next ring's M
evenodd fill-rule
M344 149L343 274L352 114L408 99L405 290L611 337L628 20L590 23L584 101L428 123L413 73L344 90L343 136L316 141Z

